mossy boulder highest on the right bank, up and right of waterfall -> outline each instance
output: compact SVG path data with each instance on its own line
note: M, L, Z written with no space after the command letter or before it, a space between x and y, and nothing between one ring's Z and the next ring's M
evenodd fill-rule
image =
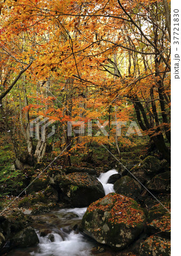
M147 156L140 163L136 164L130 172L140 180L141 183L151 180L161 170L161 162L155 156ZM129 174L131 175L131 174Z

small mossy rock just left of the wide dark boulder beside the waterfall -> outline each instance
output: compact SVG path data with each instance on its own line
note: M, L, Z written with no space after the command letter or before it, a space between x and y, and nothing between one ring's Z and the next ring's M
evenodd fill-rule
M39 177L36 180L35 178L32 178L32 180L30 181L30 184L31 184L30 187L27 188L28 194L47 188L48 177Z

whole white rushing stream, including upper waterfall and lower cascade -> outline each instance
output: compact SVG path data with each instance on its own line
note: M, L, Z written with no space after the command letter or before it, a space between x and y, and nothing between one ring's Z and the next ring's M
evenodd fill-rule
M109 177L117 174L110 170L100 174L98 180L102 183L105 195L113 190L113 184L108 184ZM76 232L77 225L81 224L83 214L87 208L70 208L54 210L50 213L35 217L35 228L39 243L36 246L11 250L11 256L91 256L92 247L97 245L95 240ZM37 222L36 222L37 220ZM46 236L40 236L39 230L46 230Z

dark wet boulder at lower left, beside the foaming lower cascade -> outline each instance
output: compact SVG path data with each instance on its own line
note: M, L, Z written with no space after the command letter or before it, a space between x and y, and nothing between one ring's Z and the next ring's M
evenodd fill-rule
M23 229L10 240L11 247L28 247L39 243L39 238L33 228L30 226Z

